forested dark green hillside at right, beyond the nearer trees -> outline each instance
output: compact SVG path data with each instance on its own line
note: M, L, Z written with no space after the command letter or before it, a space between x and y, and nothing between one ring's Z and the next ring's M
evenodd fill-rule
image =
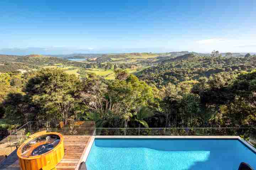
M146 68L135 75L149 84L162 86L169 82L177 84L181 81L197 80L199 77L209 77L211 74L220 72L250 71L256 68L256 56L249 58L189 56L187 56L186 60L160 63L157 66ZM184 57L185 55L182 56L182 58Z

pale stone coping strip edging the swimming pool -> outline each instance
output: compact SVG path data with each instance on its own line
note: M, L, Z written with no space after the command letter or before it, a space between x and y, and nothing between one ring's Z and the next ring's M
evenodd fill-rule
M157 138L162 138L162 139L229 139L229 140L238 140L242 144L244 144L247 148L249 148L252 152L256 154L256 149L251 146L248 142L246 142L243 138L240 136L92 136L91 141L86 149L86 152L84 154L84 157L82 159L83 162L86 162L87 157L89 156L89 153L91 151L92 144L96 138L139 138L139 139L157 139Z

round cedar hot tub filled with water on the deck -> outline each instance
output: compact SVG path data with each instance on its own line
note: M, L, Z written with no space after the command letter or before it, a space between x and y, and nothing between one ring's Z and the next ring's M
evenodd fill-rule
M22 170L41 170L55 167L64 156L62 134L38 132L30 136L17 150Z

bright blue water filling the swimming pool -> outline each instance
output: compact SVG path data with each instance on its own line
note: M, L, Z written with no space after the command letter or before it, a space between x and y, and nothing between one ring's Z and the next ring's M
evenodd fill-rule
M87 170L256 169L256 154L238 140L95 139Z

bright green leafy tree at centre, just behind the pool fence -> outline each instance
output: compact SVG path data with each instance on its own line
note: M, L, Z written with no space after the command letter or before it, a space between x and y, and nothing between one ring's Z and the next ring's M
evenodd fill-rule
M129 75L126 80L112 81L107 89L107 97L121 106L124 127L127 127L133 112L138 112L143 105L149 106L154 103L152 88L134 75Z

